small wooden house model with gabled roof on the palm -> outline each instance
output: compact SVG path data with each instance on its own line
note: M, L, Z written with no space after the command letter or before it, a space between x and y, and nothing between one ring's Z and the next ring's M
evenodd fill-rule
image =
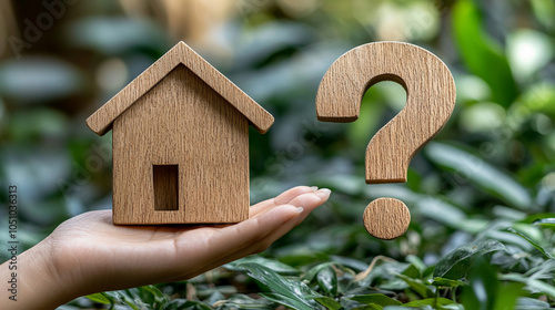
M273 116L179 42L88 120L112 130L113 223L249 218L249 125Z

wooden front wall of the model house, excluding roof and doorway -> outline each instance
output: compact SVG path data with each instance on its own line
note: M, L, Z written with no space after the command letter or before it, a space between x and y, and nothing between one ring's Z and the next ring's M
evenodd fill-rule
M153 165L179 165L179 210L154 210ZM115 224L249 218L249 123L180 64L113 124Z

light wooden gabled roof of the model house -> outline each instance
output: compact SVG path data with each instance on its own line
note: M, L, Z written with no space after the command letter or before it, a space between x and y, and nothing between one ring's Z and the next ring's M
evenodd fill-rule
M265 133L272 126L274 117L268 111L182 41L89 116L87 125L94 133L104 135L112 128L115 118L180 63L241 112L260 133Z

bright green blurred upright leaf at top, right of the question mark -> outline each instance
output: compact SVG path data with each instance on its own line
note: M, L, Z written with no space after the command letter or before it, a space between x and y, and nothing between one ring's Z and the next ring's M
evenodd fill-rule
M481 12L473 1L453 7L453 33L466 68L491 87L493 100L508 107L518 91L503 49L482 30Z

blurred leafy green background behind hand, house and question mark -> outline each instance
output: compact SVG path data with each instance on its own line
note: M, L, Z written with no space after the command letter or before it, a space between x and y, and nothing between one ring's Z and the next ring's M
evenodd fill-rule
M84 118L178 40L275 116L266 135L251 131L252 203L302 184L333 190L260 256L61 309L555 304L552 0L75 0L26 39L48 12L41 2L0 4L0 187L19 188L24 247L69 217L111 207L111 137L95 136ZM382 40L428 49L457 86L451 121L412 161L406 184L364 183L365 146L402 108L400 85L370 89L356 122L315 120L325 70ZM412 214L393 241L362 225L367 203L385 196ZM7 190L0 199L6 206Z

